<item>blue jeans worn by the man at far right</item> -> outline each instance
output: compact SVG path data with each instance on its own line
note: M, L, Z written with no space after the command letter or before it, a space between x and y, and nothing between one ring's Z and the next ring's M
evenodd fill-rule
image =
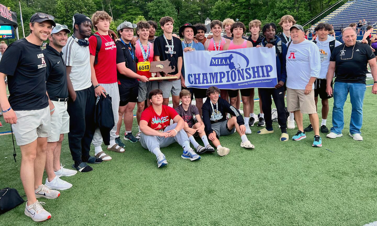
M363 101L366 87L363 83L345 83L336 81L334 83L334 108L333 108L333 127L331 132L341 134L344 127L343 107L349 97L352 105L351 121L349 122L350 134L361 134L360 129L363 125Z

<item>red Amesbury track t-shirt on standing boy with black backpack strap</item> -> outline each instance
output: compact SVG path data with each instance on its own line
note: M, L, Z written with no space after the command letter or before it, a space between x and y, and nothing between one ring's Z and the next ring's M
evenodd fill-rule
M95 34L99 34L96 32ZM98 63L94 65L95 75L98 83L116 83L116 45L110 35L100 35L102 45L98 52ZM97 38L92 35L89 38L89 52L95 56L97 48Z

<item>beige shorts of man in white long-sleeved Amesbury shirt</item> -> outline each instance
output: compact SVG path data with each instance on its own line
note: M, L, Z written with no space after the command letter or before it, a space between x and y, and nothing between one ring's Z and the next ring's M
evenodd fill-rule
M289 112L300 110L302 114L315 114L316 102L314 89L305 95L305 89L291 89L287 87L287 108Z

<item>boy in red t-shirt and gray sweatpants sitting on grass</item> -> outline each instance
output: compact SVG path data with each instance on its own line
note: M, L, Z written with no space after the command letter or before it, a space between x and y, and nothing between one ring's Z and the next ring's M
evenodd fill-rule
M174 142L183 148L182 158L191 161L199 160L190 147L190 141L185 131L182 130L184 121L173 108L162 105L162 91L155 89L149 93L149 101L152 103L146 108L140 117L140 144L156 155L158 168L167 165L165 155L160 148L167 147ZM170 119L174 123L170 125Z

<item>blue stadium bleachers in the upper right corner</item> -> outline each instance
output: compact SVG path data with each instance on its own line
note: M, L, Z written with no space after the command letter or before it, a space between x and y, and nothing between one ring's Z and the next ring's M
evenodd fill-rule
M359 20L365 19L367 25L377 26L377 0L353 0L344 3L342 6L331 12L318 23L329 23L334 26L336 36L339 35L342 28L347 27L350 23L358 23ZM374 33L376 30L374 30Z

